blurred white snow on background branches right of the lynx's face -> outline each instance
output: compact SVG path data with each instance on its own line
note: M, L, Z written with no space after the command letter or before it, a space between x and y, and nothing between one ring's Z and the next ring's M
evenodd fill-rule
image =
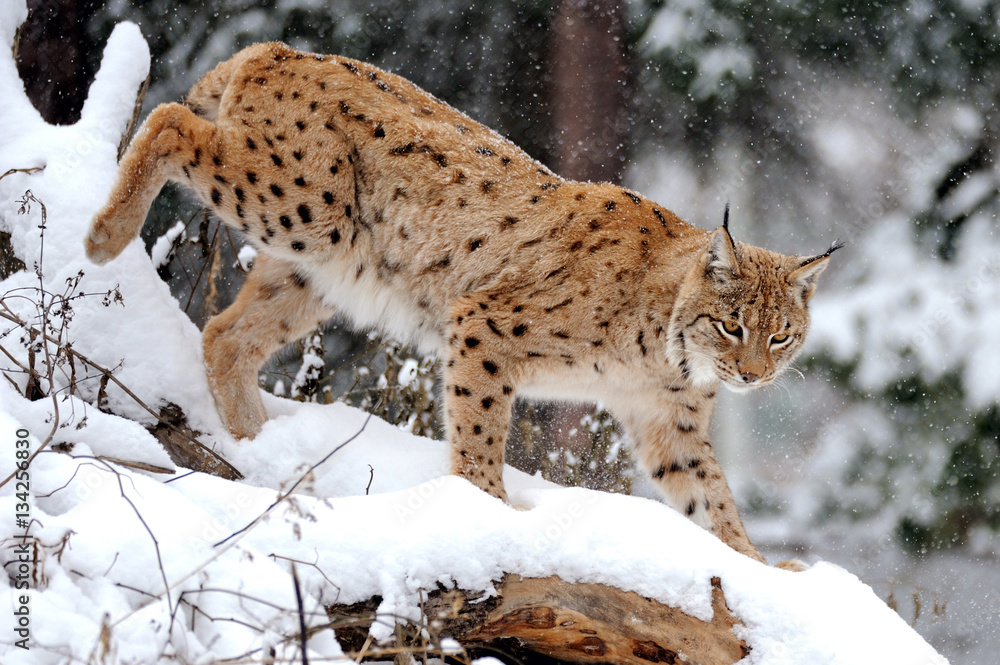
M957 372L970 408L996 403L1000 243L991 226L985 215L972 217L959 241L964 260L945 263L920 248L907 219L887 218L854 247L868 267L864 286L812 305L811 347L857 362L862 390Z

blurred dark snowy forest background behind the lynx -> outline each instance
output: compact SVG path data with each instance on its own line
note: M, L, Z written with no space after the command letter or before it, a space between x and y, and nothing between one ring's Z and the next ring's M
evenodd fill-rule
M758 545L858 574L953 663L994 661L1000 3L31 5L21 73L54 122L79 113L122 20L152 51L145 112L241 47L278 39L406 76L556 172L624 182L694 224L718 225L729 201L746 242L813 253L848 241L820 286L802 376L720 404L723 467ZM145 234L199 326L225 307L247 259L238 237L177 191L161 196ZM303 367L320 349L323 367ZM430 433L428 382L390 380L432 375L407 359L334 326L305 354L290 349L265 382ZM621 482L622 449L600 416L522 411L528 451L511 449L516 466L644 491Z

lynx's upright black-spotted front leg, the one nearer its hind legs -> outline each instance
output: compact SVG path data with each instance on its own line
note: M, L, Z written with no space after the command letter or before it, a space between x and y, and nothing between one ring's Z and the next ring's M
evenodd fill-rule
M517 369L491 321L463 316L469 312L464 304L453 311L457 325L443 377L451 472L506 501L503 463Z

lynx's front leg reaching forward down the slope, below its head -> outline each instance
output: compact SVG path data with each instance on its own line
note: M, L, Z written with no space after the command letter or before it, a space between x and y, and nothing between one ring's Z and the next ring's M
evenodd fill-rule
M670 392L623 414L639 461L667 501L737 552L764 562L747 537L708 440L714 393Z

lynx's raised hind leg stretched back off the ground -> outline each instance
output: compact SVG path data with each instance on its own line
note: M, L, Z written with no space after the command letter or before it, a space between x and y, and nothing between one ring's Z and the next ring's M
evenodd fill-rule
M146 118L122 158L111 196L91 221L87 256L107 263L137 236L149 206L169 179L183 175L215 125L180 104L162 104Z

